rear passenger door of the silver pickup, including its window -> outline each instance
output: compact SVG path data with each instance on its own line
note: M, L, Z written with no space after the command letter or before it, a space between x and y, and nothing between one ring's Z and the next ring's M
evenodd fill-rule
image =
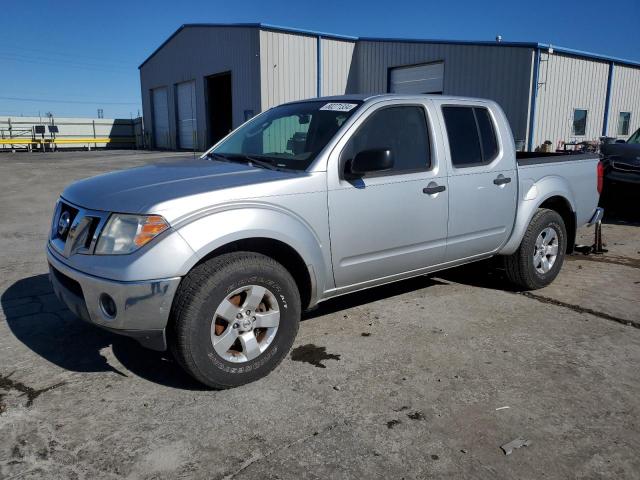
M511 233L517 201L506 118L489 104L439 103L450 161L447 260L495 252Z

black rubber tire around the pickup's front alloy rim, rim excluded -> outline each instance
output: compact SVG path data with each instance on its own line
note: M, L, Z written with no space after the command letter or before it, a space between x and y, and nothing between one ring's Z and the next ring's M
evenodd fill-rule
M211 328L217 307L243 285L263 286L274 294L280 323L264 352L236 363L214 350ZM278 366L298 333L300 314L300 293L282 265L253 252L224 254L198 265L182 280L173 302L170 348L178 363L199 382L215 389L237 387Z

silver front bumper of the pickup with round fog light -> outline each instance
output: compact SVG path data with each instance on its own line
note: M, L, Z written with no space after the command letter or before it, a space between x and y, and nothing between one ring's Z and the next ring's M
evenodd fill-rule
M55 294L79 318L153 350L166 350L165 327L180 277L118 282L68 267L50 247L47 259ZM109 314L105 298L112 299L115 313Z

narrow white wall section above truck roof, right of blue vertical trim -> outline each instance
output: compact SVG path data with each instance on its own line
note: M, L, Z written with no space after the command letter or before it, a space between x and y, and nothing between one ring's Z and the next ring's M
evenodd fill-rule
M322 95L347 93L349 75L353 74L355 42L322 39Z

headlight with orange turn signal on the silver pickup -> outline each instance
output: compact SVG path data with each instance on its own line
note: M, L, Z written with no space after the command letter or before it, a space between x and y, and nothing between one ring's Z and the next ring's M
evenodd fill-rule
M160 215L124 215L114 213L105 225L95 253L122 255L131 253L164 232L169 225Z

